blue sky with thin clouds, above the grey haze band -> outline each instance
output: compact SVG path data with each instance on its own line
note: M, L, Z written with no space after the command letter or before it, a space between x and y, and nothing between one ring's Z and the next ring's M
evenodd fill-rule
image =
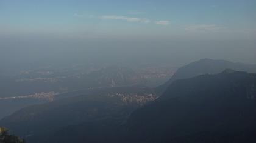
M2 35L255 39L255 0L1 0Z

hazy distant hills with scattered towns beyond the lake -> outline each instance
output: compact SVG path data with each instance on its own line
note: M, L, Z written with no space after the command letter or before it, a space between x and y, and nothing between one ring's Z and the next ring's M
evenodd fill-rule
M82 71L81 71L82 72ZM48 72L46 72L48 73ZM0 97L26 96L51 91L62 93L87 88L145 85L147 80L126 67L105 67L89 73L52 73L0 76Z

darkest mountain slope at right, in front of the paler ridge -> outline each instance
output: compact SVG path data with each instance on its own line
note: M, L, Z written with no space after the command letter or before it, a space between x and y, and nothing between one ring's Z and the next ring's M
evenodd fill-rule
M174 81L127 121L130 142L255 142L256 74Z

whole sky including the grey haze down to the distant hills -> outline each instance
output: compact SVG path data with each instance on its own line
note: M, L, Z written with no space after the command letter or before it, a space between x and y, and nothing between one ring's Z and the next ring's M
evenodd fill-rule
M255 13L255 0L0 0L0 59L43 60L91 48L118 55L133 47L131 56L140 48L154 51L144 57L255 63Z

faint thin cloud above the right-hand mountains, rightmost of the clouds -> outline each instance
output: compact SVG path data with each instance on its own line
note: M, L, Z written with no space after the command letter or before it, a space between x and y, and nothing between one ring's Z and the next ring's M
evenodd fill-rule
M220 32L224 27L215 24L192 25L186 28L189 32Z

